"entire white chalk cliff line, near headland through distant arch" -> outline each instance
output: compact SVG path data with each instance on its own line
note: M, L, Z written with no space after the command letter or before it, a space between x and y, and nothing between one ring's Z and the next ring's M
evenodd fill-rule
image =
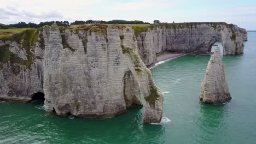
M226 55L243 53L242 37L226 23L28 29L0 39L0 99L41 92L57 115L106 118L142 106L143 95L143 121L160 122L163 98L146 65L164 51L210 53L217 40Z

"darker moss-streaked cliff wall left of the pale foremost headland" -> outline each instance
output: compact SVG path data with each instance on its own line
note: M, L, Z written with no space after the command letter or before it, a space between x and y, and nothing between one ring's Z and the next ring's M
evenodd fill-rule
M42 35L39 31L28 33ZM28 37L28 33L16 35ZM15 35L14 35L15 36ZM0 99L29 101L36 92L43 92L44 47L29 40L0 40Z

